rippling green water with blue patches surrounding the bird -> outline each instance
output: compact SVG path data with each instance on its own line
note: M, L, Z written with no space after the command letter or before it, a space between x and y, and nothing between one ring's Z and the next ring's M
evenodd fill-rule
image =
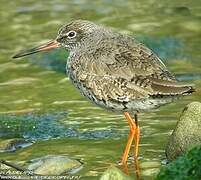
M64 154L84 163L76 174L86 179L98 179L120 160L128 125L122 115L88 102L65 78L67 53L11 59L21 49L54 38L60 25L72 19L92 20L136 36L157 52L178 79L198 88L192 96L139 117L141 174L153 179L151 172L157 172L165 159L168 136L183 107L201 100L200 0L1 0L0 138L35 143L0 153L0 158L15 162ZM155 165L143 166L147 162ZM132 164L129 170L134 177Z

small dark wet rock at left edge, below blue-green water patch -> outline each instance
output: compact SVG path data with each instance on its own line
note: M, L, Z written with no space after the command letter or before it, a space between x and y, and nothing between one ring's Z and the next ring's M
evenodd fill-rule
M24 139L6 139L0 141L0 152L12 152L19 148L25 148L32 145L32 142L28 142Z

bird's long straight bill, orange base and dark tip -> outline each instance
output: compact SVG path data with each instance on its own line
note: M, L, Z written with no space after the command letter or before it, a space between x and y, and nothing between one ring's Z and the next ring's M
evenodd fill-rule
M55 49L55 48L58 48L58 47L60 47L60 43L57 42L56 40L52 40L52 41L49 41L49 42L47 42L45 44L42 44L40 46L31 48L31 49L27 49L25 51L21 51L18 54L14 55L13 58L20 58L20 57L24 57L24 56L27 56L27 55L30 55L30 54L37 53L37 52L47 51L47 50L50 50L50 49Z

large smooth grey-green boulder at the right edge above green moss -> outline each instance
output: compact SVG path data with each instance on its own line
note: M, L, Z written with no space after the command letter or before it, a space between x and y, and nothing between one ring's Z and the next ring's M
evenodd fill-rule
M201 144L201 103L188 104L177 122L166 147L169 161L176 159L195 145Z

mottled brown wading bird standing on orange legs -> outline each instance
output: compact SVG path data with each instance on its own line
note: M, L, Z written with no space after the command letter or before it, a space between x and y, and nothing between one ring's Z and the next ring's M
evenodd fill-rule
M162 60L132 36L88 20L63 25L56 38L13 56L20 58L54 48L69 52L66 71L72 84L95 105L124 114L130 132L121 163L126 164L134 144L138 158L138 115L171 103L195 91L180 82Z

